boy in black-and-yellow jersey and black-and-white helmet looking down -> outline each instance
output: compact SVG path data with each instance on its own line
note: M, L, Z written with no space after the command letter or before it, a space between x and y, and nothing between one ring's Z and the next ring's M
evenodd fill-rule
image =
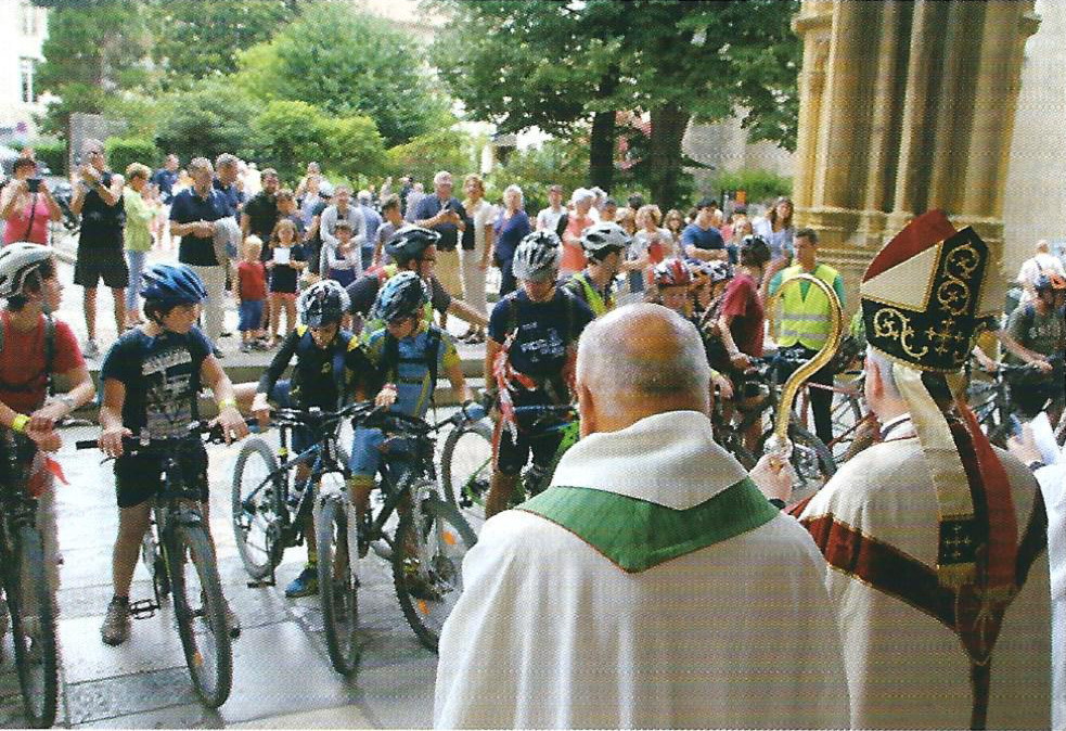
M335 411L352 396L368 364L358 347L359 339L341 329L341 319L348 306L348 294L333 280L316 282L299 296L296 308L303 324L285 337L258 384L242 383L234 389L237 403L242 409L251 409L261 426L266 427L270 421L271 401L281 408L317 407ZM294 357L296 364L292 377L284 380L281 376ZM305 427L293 429L292 448L297 454L316 440L316 435ZM295 493L291 499L299 499L310 472L310 465L297 465ZM285 595L290 599L318 593L318 552L312 518L307 515L305 521L307 563L285 587Z

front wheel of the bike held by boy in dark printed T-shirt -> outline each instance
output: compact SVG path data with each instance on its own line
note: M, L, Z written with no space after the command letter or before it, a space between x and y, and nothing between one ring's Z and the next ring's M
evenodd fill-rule
M233 646L215 552L203 525L178 525L170 534L165 542L181 649L196 693L218 708L233 684ZM200 611L193 610L196 602L202 602Z

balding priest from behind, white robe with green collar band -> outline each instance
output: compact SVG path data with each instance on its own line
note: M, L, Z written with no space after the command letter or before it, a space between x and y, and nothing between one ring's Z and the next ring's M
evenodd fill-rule
M824 560L715 444L709 383L658 305L585 331L582 439L467 554L438 728L847 724Z

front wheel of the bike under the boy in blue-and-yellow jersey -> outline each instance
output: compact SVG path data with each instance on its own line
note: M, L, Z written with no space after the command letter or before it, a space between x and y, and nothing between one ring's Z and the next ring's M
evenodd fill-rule
M412 490L419 496L420 490ZM435 491L400 516L393 544L393 581L403 617L419 641L437 652L440 629L463 588L463 556L477 542L474 529ZM411 549L416 556L409 555Z

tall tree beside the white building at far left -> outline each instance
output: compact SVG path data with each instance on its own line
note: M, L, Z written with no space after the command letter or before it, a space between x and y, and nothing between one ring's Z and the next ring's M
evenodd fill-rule
M150 42L139 2L57 3L49 14L44 62L37 69L40 90L61 100L49 105L46 130L66 133L72 112L102 113L118 90L145 84Z

